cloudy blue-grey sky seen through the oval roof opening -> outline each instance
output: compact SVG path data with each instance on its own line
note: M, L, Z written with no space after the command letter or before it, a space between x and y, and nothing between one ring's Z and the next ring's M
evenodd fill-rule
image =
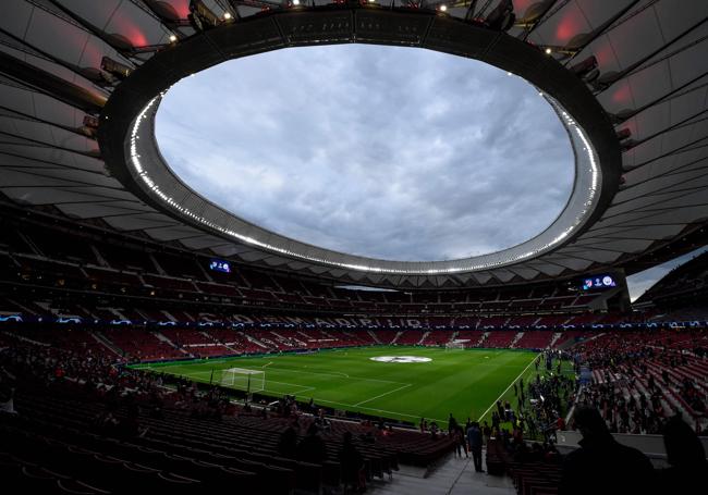
M481 62L341 45L187 77L157 116L194 189L306 243L396 260L481 255L560 213L570 143L546 100Z

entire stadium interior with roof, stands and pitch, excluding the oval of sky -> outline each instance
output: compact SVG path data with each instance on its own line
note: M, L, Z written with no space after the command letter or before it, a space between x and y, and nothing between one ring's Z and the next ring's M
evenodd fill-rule
M708 2L305 3L2 2L5 485L701 493ZM172 173L154 133L171 86L349 42L537 87L575 153L557 221L480 257L370 259L249 224Z

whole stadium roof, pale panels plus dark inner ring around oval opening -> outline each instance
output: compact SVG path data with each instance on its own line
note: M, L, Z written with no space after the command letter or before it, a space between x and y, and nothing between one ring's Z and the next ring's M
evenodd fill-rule
M16 202L188 249L371 285L520 283L622 268L705 225L708 2L516 0L515 21L506 0L304 3L3 2L0 189ZM601 168L597 199L581 221L572 210L571 223L521 252L411 267L295 246L255 225L234 231L233 218L207 214L213 206L188 188L172 200L191 206L185 214L135 181L127 158L136 134L125 131L136 132L135 116L149 116L156 104L142 113L146 102L166 85L234 57L345 41L428 47L524 76L586 133ZM151 125L144 129L147 146Z

